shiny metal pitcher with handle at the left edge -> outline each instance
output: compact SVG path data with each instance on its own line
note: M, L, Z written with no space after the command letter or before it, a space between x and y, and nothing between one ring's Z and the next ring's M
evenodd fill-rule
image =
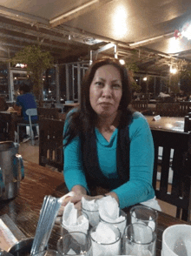
M24 178L23 158L19 145L12 141L0 142L0 199L15 198Z

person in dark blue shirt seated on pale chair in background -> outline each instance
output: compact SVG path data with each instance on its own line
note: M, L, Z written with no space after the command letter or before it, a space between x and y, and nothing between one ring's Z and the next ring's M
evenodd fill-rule
M26 114L26 111L31 108L36 108L36 99L34 95L30 92L30 86L27 84L21 84L19 86L19 93L20 95L16 98L16 104L14 105L14 109L16 111L21 111L22 117L18 120L19 123L27 123L29 124L29 117ZM36 122L38 120L37 116L31 117L32 122ZM34 138L37 138L37 131L36 127L32 127L34 132ZM20 141L26 142L30 139L30 136L26 134L26 127L20 126L19 127L19 139Z

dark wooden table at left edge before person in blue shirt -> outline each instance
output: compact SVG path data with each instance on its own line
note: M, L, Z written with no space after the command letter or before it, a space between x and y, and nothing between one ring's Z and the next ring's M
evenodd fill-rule
M8 123L9 139L15 141L16 123L18 119L17 111L0 111L0 116Z

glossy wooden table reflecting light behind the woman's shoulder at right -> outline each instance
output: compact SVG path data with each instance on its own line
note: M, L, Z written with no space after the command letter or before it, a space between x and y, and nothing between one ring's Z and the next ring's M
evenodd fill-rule
M151 129L184 131L184 118L161 117L161 119L155 121L152 116L145 117Z

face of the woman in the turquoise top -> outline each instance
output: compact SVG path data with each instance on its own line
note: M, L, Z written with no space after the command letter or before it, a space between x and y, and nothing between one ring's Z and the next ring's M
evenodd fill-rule
M102 117L115 117L121 98L120 71L110 64L98 68L89 87L89 101L95 113Z

